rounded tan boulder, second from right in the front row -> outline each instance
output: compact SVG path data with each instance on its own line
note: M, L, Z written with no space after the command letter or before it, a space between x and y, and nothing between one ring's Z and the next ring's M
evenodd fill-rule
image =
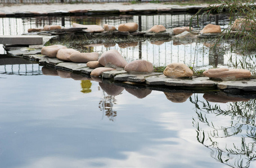
M171 63L164 69L164 75L169 78L192 77L193 71L183 63Z

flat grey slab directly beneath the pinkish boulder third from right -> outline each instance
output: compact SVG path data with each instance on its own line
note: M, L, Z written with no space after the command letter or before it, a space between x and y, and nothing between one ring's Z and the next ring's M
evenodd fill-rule
M114 77L115 81L128 81L128 82L145 82L145 78L150 76L159 76L163 73L147 73L147 74L130 74L130 73L123 73L118 74Z

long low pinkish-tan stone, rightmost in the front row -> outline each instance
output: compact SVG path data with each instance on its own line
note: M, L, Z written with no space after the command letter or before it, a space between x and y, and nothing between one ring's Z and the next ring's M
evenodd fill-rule
M213 68L203 72L204 76L217 80L243 80L250 78L251 73L246 69Z

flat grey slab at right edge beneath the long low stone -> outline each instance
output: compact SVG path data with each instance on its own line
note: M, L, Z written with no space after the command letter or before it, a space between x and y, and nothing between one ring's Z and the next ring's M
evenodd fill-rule
M256 91L256 80L222 81L217 87L220 90L238 88L245 91Z

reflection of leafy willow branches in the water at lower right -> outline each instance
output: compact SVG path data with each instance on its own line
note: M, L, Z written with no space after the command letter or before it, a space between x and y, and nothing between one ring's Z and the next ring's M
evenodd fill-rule
M206 101L197 95L190 97L197 114L193 118L197 141L212 151L215 160L232 167L249 167L256 158L256 100L224 93L203 97Z

